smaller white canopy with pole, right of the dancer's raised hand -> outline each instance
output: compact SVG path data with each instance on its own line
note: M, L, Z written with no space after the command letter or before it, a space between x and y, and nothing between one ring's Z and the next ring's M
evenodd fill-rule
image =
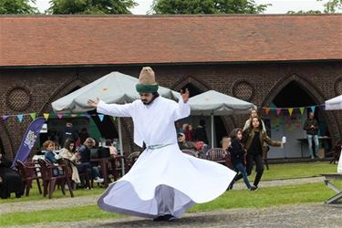
M213 147L213 116L247 114L256 107L242 99L219 93L214 90L189 98L192 115L212 117L212 147Z

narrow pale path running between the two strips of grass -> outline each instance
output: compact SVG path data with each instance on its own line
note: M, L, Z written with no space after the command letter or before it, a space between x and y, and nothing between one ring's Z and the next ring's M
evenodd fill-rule
M283 185L292 185L292 184L304 184L311 182L322 182L323 177L313 177L313 178L301 178L301 179L288 179L288 180L280 180L280 181L261 181L259 186L263 187L272 187L272 186L283 186ZM246 189L244 182L239 181L234 184L233 190ZM75 192L77 194L77 192ZM8 213L8 212L32 212L32 211L41 211L47 209L57 209L57 208L67 208L67 207L78 207L85 205L93 205L96 204L98 200L98 195L90 195L90 196L77 196L74 198L65 197L59 199L51 199L51 200L43 200L38 203L31 202L9 202L9 203L1 203L0 204L0 214Z

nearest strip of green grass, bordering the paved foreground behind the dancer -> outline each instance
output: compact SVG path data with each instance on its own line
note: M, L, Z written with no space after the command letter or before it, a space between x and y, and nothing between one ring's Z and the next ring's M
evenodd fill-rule
M342 187L342 184L339 185ZM324 183L308 183L262 188L256 192L235 190L223 193L212 202L196 204L189 212L209 212L233 208L262 208L282 204L325 202L335 193ZM67 209L45 210L38 212L12 212L0 216L1 226L25 225L30 223L53 223L84 221L91 219L110 219L124 217L98 209L97 205L80 206Z

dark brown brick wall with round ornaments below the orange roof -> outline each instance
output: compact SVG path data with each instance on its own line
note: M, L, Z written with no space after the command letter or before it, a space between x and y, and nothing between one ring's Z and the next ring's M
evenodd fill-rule
M66 95L71 89L120 71L138 77L141 66L126 67L50 67L0 69L1 116L51 111L51 102ZM191 83L200 91L215 89L230 96L249 98L257 106L269 104L289 82L296 81L307 88L317 103L341 94L342 62L316 63L259 63L217 65L153 66L156 80L161 86L175 90ZM341 111L324 112L328 127L335 140L342 138ZM247 116L224 117L229 132L241 127ZM16 117L0 120L0 138L5 154L12 158L30 122L26 116L22 123ZM124 150L139 150L133 145L132 122L122 119ZM114 124L117 126L117 124Z

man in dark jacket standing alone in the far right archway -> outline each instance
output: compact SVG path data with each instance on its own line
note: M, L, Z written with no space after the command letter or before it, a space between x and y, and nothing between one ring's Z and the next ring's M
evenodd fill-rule
M309 146L311 159L318 158L318 148L319 148L318 123L317 123L317 120L315 119L314 112L309 112L309 118L306 119L303 129L306 130L306 138L307 138L307 143ZM314 140L315 142L315 153L312 150L312 140Z

